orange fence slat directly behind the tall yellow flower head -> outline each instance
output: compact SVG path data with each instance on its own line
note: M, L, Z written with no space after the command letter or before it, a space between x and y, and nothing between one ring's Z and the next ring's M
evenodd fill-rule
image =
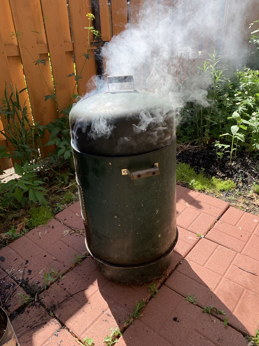
M82 56L88 51L88 30L84 29L89 26L89 20L86 17L87 13L92 12L90 0L68 0L69 13L71 21L71 29L74 40L74 55L77 75L82 75L82 78L78 80L78 93L85 94L88 90L86 87L87 82L91 77L96 74L96 65L93 49L90 52L90 58L85 63L85 57ZM90 40L93 40L91 34ZM85 66L83 68L83 65Z

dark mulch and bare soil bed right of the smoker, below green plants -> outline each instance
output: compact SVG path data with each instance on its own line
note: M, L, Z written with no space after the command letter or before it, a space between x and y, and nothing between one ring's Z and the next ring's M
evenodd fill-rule
M218 161L215 148L212 146L189 147L179 145L177 150L179 162L189 163L196 173L204 173L221 179L230 178L237 184L236 190L223 191L214 197L230 203L232 207L259 214L259 195L253 192L253 184L259 184L259 159L238 152L229 164L230 154L226 153ZM190 188L190 186L188 186Z

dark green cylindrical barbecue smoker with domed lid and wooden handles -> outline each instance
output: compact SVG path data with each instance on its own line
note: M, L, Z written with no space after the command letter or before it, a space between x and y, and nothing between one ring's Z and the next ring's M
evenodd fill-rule
M138 284L163 274L177 241L176 137L167 101L108 77L124 82L69 120L87 250L108 279Z

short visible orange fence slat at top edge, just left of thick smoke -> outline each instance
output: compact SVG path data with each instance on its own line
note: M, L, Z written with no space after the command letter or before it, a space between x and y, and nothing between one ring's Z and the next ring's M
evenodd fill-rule
M113 35L119 34L127 24L127 1L111 0Z

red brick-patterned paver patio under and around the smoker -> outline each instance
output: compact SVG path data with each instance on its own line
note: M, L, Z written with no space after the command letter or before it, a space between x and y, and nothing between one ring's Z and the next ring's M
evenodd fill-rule
M179 239L169 270L155 281L156 298L150 283L105 279L90 257L73 263L74 254L86 251L79 202L0 250L1 302L9 316L15 311L11 324L20 345L76 346L88 337L101 346L116 326L123 331L118 346L247 345L244 336L259 327L259 216L182 186L176 210ZM65 275L45 290L50 265ZM26 285L8 298L21 277ZM22 307L17 293L36 292L37 302ZM185 300L188 294L196 305ZM136 300L147 299L141 318L124 329ZM228 325L225 316L203 313L206 305L224 310Z

